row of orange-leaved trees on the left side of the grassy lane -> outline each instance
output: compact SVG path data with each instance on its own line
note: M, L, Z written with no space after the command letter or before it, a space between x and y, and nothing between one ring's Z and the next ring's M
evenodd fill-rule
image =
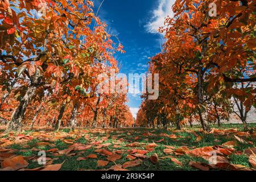
M126 94L100 94L98 75L118 72L123 52L84 0L0 2L1 113L23 125L131 126Z

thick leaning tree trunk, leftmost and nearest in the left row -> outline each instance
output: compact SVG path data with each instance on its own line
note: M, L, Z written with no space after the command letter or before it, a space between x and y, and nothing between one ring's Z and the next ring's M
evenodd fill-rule
M9 121L5 133L12 130L21 131L22 129L22 119L24 118L24 113L27 109L27 105L30 103L32 97L36 94L36 86L32 85L27 89L26 94L20 100L19 106L14 110L11 120Z

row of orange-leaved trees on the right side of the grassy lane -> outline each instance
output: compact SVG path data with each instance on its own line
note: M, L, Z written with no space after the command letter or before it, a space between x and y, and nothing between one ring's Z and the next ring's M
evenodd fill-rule
M148 69L159 73L159 99L142 96L137 125L175 123L180 129L200 121L209 131L208 122L220 126L235 113L248 129L247 113L256 104L256 4L216 0L215 9L212 2L176 0L174 18L167 17L160 28L163 51Z

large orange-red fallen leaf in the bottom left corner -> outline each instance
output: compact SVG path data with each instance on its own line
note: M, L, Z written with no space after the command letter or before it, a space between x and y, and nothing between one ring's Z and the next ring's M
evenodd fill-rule
M24 160L23 156L18 155L13 158L7 158L1 163L2 168L11 167L14 170L27 167L28 163Z

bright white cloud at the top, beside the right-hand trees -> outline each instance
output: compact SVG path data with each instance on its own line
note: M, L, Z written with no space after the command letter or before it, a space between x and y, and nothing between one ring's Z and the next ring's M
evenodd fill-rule
M147 32L155 34L159 27L164 26L164 19L169 15L174 16L172 5L175 0L158 0L158 6L152 11L152 20L146 24Z

